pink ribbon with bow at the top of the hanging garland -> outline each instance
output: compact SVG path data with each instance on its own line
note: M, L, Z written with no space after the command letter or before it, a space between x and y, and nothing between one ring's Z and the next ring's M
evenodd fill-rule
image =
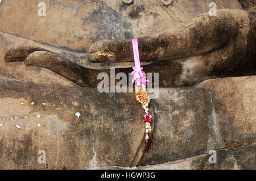
M143 68L141 67L141 62L139 61L139 48L138 48L138 40L137 39L131 39L131 43L133 44L133 56L134 56L134 64L133 71L131 72L131 75L134 75L133 77L133 83L135 82L135 87L137 87L138 82L144 85L147 84L148 79L144 75Z

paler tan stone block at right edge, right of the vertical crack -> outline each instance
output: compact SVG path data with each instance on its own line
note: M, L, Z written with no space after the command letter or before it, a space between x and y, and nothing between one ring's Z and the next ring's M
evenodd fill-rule
M212 95L209 119L212 119L215 132L221 134L218 142L222 148L256 142L255 85L256 76L212 79L197 85L210 90Z

